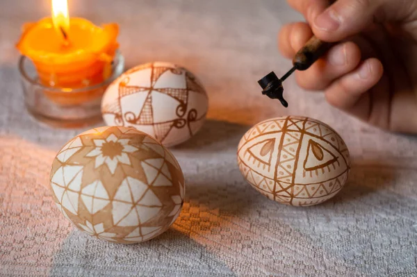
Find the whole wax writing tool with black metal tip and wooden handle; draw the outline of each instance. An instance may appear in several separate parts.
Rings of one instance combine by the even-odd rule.
[[[295,70],[306,70],[311,67],[311,65],[326,53],[332,45],[333,44],[329,42],[322,42],[316,36],[311,37],[304,47],[295,54],[295,57],[293,58],[293,68],[284,74],[284,76],[279,79],[274,72],[270,72],[270,74],[258,81],[263,90],[262,94],[268,96],[270,99],[279,99],[282,106],[288,107],[288,102],[285,101],[282,96],[284,93],[282,82],[293,74]]]

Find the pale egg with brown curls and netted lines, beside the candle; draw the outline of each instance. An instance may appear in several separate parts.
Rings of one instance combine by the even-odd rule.
[[[137,128],[173,146],[204,124],[208,98],[191,72],[169,62],[128,70],[106,90],[101,113],[107,125]]]

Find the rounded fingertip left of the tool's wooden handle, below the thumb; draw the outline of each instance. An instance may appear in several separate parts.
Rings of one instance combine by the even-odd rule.
[[[312,35],[309,24],[304,22],[285,25],[278,35],[279,51],[286,58],[293,58]]]

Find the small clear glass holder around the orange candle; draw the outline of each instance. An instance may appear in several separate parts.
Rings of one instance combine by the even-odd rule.
[[[117,51],[110,76],[103,82],[81,88],[49,87],[26,56],[19,60],[19,72],[26,108],[35,119],[61,128],[77,128],[101,121],[101,96],[124,71],[124,57]]]

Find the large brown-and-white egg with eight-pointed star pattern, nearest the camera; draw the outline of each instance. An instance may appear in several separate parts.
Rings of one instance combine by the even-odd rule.
[[[50,181],[63,215],[108,242],[130,244],[160,235],[183,204],[177,160],[135,128],[100,127],[77,135],[56,155]]]

